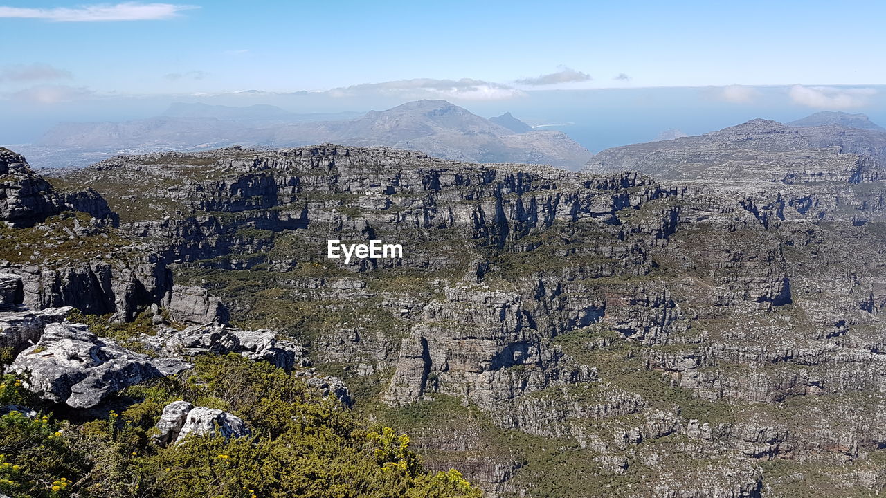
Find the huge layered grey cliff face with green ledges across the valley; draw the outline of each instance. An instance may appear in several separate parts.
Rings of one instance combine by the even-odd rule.
[[[128,274],[152,299],[168,261],[299,338],[431,468],[491,495],[747,497],[886,477],[886,202],[877,167],[834,161],[814,183],[657,183],[323,145],[51,181],[156,251]],[[404,257],[346,264],[331,238]]]

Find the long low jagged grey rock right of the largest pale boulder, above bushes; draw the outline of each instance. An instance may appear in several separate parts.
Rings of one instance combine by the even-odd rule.
[[[141,336],[139,340],[158,354],[169,356],[237,353],[285,370],[308,363],[301,346],[276,338],[274,332],[265,330],[240,331],[227,325],[192,325],[182,331],[164,329],[153,336]]]

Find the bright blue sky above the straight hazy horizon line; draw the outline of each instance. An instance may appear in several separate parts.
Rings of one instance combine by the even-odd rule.
[[[413,78],[518,89],[886,83],[882,2],[186,0],[113,11],[141,8],[135,15],[146,20],[83,20],[105,15],[95,5],[0,0],[0,69],[45,65],[62,75],[51,83],[125,94]],[[591,79],[518,83],[564,68]],[[0,84],[10,92],[32,83],[50,82]]]

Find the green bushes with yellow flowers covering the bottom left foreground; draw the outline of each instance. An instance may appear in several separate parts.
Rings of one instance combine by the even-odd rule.
[[[252,435],[189,436],[159,447],[167,402],[226,409]],[[5,376],[0,405],[35,403]],[[408,436],[370,425],[294,374],[231,354],[182,377],[128,388],[91,421],[0,416],[0,493],[12,498],[479,497],[457,471],[425,471]]]

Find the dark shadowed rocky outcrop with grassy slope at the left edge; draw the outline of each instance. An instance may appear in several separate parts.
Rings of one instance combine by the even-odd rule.
[[[169,291],[165,262],[114,228],[116,216],[97,192],[56,191],[6,149],[0,175],[0,268],[19,276],[15,304],[128,320]]]

